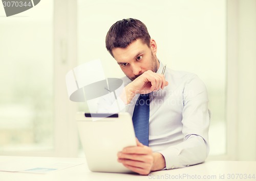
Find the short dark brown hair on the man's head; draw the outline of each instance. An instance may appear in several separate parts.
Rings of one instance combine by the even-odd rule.
[[[127,18],[117,21],[106,34],[106,49],[113,56],[113,48],[126,48],[133,41],[141,39],[150,47],[150,34],[143,22],[138,19]]]

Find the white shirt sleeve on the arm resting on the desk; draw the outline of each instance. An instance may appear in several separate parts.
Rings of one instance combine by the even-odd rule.
[[[204,83],[194,75],[184,85],[183,142],[160,152],[166,169],[182,168],[205,161],[209,153],[208,95]]]

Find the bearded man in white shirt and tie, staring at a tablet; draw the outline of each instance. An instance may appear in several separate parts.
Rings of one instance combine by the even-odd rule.
[[[149,95],[150,101],[148,146],[137,140],[137,146],[118,152],[118,162],[142,175],[204,162],[209,152],[209,113],[203,82],[195,74],[169,68],[161,74],[156,41],[137,19],[114,23],[105,41],[126,75],[119,97],[125,111],[133,115],[139,109],[140,94]]]

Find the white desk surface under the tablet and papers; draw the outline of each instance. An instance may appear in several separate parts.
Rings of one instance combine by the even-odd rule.
[[[26,157],[0,156],[0,163],[14,161]],[[28,157],[31,159],[31,157]],[[122,173],[100,173],[88,170],[83,158],[34,158],[38,161],[49,160],[58,162],[83,163],[67,169],[46,174],[3,172],[0,171],[1,181],[140,181],[140,180],[256,180],[256,162],[237,161],[206,161],[203,164],[186,168],[152,172],[150,175]],[[249,179],[249,174],[251,178]],[[254,174],[254,178],[252,178]],[[206,177],[206,178],[204,178]],[[208,177],[208,179],[207,179]],[[247,177],[247,178],[246,178]]]

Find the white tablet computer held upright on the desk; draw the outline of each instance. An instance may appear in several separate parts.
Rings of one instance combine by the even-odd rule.
[[[97,117],[95,121],[93,118]],[[129,173],[117,162],[117,153],[136,146],[132,117],[129,113],[88,114],[76,117],[81,144],[91,171]]]

